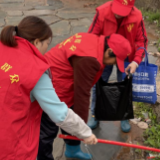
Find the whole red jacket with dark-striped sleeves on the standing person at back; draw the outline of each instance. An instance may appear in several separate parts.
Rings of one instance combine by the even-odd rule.
[[[139,47],[147,48],[148,42],[142,14],[136,7],[133,7],[130,15],[123,18],[118,28],[117,20],[111,11],[111,6],[112,1],[96,9],[97,14],[89,28],[89,33],[105,36],[109,36],[112,33],[123,35],[132,46],[132,54],[129,56],[129,61],[135,61],[140,64],[145,52],[144,50],[137,51],[137,49]]]

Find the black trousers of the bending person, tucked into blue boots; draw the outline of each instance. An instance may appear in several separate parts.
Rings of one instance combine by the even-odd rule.
[[[64,130],[61,130],[62,134],[70,135]],[[43,112],[41,119],[40,128],[40,139],[39,139],[39,149],[37,160],[54,160],[52,156],[53,142],[57,137],[58,127],[56,124],[48,117],[48,115]],[[80,141],[74,140],[64,140],[68,145],[80,145]]]

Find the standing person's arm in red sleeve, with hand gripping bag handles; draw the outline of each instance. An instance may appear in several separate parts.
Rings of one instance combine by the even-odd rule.
[[[144,49],[137,50],[139,47],[144,47],[147,49],[148,39],[146,34],[146,29],[144,26],[143,20],[139,23],[138,31],[136,33],[136,52],[134,55],[133,61],[128,65],[128,67],[125,69],[125,72],[128,73],[128,70],[130,70],[130,73],[134,73],[138,67],[138,65],[142,62],[145,51]]]

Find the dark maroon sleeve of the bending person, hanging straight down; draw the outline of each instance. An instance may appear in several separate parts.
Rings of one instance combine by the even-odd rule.
[[[74,70],[74,106],[73,110],[85,122],[88,120],[89,100],[92,84],[100,64],[93,57],[71,57]]]

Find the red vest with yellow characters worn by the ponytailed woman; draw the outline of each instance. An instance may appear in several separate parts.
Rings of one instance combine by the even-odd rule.
[[[27,40],[18,47],[0,42],[0,160],[35,160],[42,110],[30,92],[49,68]]]

